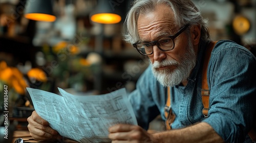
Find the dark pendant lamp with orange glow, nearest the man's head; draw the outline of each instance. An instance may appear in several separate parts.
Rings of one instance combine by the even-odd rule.
[[[112,6],[111,1],[99,0],[91,20],[97,23],[114,24],[121,21],[118,10]]]

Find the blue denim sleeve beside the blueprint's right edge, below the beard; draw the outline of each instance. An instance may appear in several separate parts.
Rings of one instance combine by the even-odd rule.
[[[156,84],[151,66],[149,66],[137,81],[136,89],[129,94],[138,125],[145,130],[148,129],[149,123],[159,115],[158,106],[152,97],[153,94],[157,97],[158,92],[154,92],[158,90]]]

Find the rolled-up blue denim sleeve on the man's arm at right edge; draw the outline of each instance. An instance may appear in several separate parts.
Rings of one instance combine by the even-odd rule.
[[[207,71],[208,123],[226,142],[243,142],[256,108],[256,59],[230,42],[216,45]]]

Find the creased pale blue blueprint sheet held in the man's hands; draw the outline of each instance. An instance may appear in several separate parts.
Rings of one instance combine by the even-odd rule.
[[[37,114],[61,136],[78,142],[111,142],[109,127],[137,125],[124,88],[97,96],[75,96],[58,89],[61,96],[27,88]]]

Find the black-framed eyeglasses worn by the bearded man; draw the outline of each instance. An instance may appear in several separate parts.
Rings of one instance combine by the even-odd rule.
[[[182,27],[176,34],[170,35],[164,38],[160,38],[152,42],[136,42],[133,46],[137,51],[142,55],[151,55],[153,54],[153,46],[157,45],[158,49],[161,51],[171,51],[174,49],[175,43],[174,39],[178,37],[182,32],[184,32],[189,25]]]

